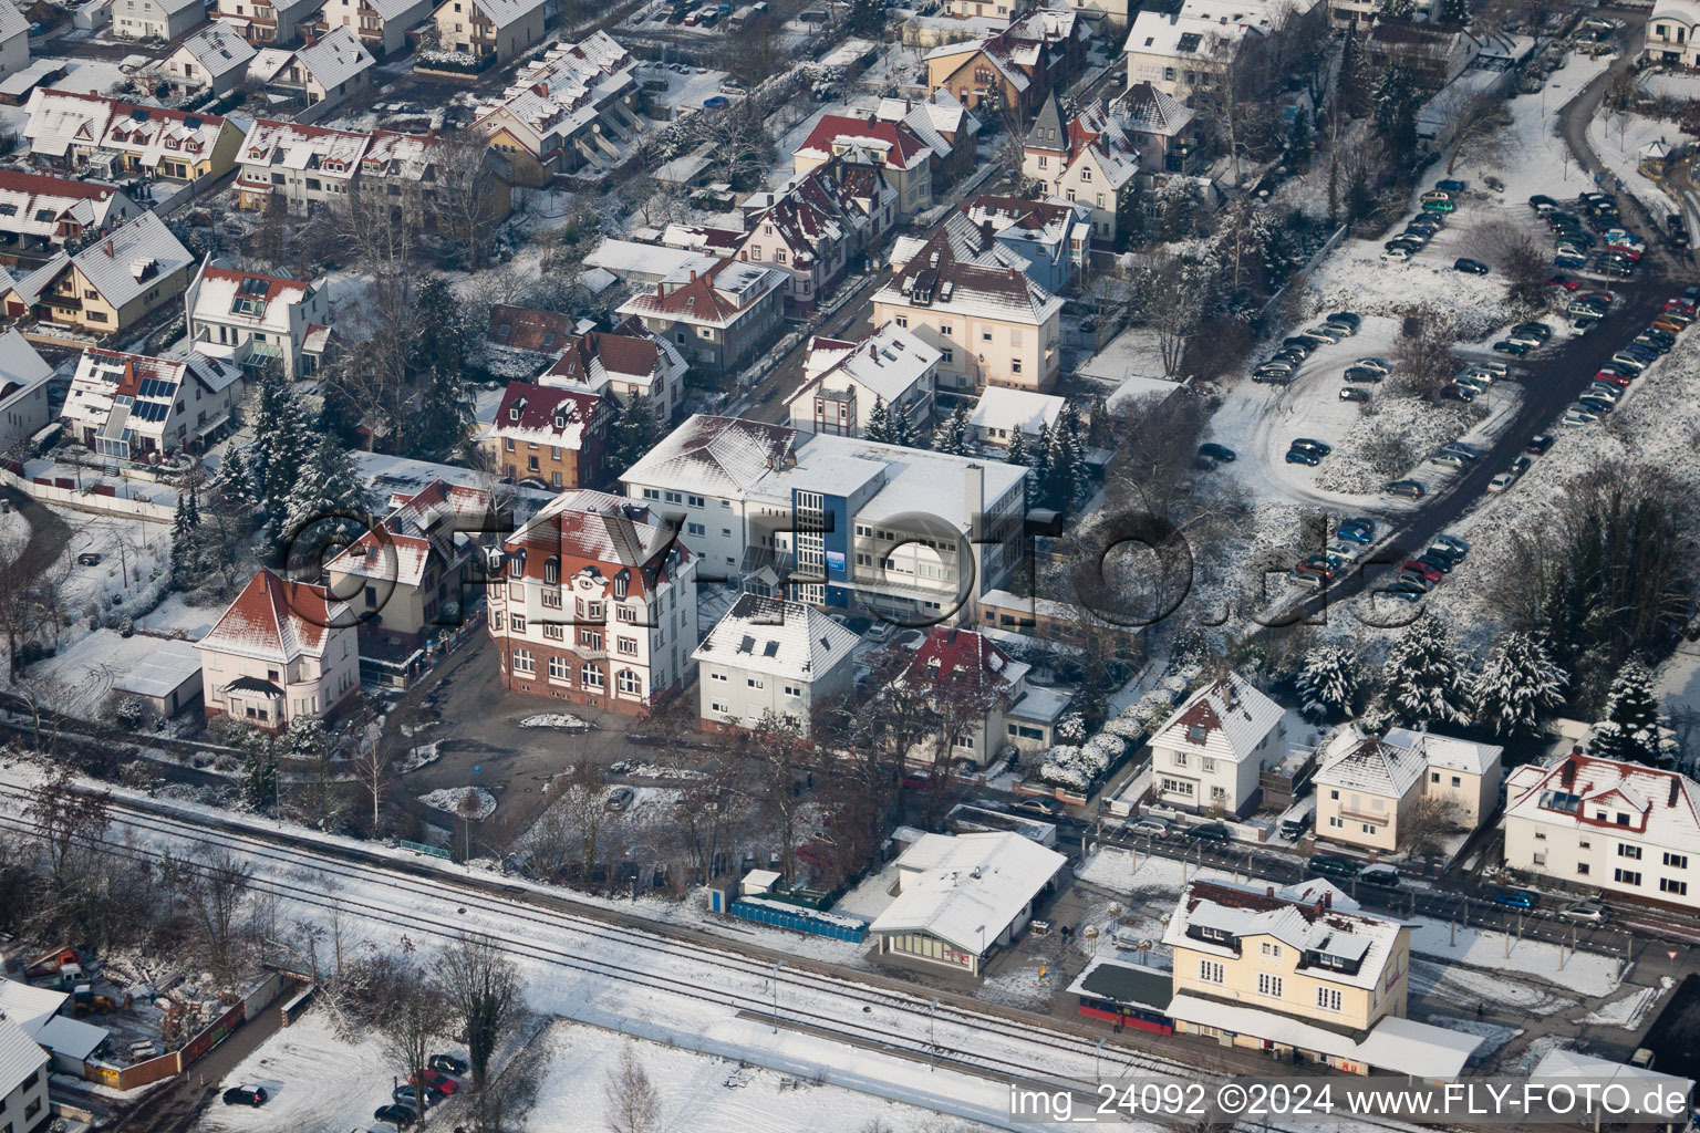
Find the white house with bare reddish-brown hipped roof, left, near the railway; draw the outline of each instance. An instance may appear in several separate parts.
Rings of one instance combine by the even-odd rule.
[[[360,649],[348,606],[323,586],[262,567],[202,637],[201,698],[209,717],[267,730],[333,715],[360,691]]]

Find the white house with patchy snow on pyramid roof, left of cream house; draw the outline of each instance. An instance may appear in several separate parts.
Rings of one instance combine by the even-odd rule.
[[[1258,802],[1258,775],[1287,756],[1285,715],[1238,673],[1210,681],[1153,736],[1153,797],[1182,810],[1246,814]]]

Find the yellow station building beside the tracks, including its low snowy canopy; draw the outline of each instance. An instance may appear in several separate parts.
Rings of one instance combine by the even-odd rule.
[[[1163,943],[1175,1031],[1346,1074],[1452,1079],[1479,1036],[1404,1017],[1411,927],[1323,880],[1282,890],[1192,882]]]

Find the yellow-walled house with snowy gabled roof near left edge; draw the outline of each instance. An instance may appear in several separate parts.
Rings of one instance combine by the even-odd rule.
[[[83,331],[126,331],[177,302],[196,256],[153,212],[143,212],[76,255],[48,260],[0,296],[8,319],[34,318]]]

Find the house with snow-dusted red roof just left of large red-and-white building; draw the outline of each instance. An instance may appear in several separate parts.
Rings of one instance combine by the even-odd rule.
[[[359,620],[362,654],[396,652],[394,639],[405,656],[461,625],[479,593],[473,555],[495,518],[490,491],[434,481],[391,496],[389,515],[325,564],[330,595]]]

